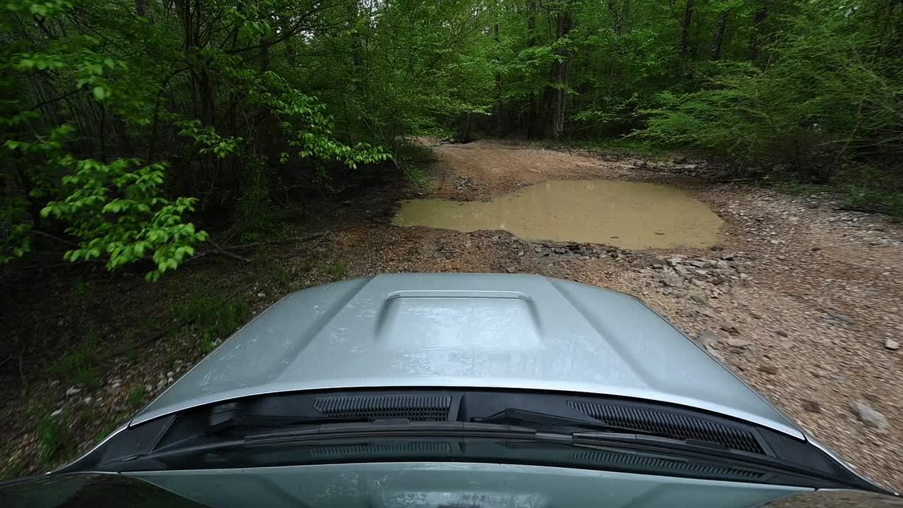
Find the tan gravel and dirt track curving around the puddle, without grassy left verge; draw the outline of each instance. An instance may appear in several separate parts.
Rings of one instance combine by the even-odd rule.
[[[693,165],[493,142],[436,146],[430,195],[485,200],[528,183],[610,178],[673,183],[725,220],[716,249],[632,252],[530,243],[506,231],[353,226],[329,249],[349,276],[518,272],[639,296],[866,475],[903,489],[903,228],[836,212],[827,195],[684,180]],[[868,407],[875,411],[874,414]]]

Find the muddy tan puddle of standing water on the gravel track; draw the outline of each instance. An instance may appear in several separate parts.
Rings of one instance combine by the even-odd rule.
[[[396,226],[508,230],[522,240],[605,243],[625,249],[709,247],[721,218],[680,189],[656,183],[536,183],[491,202],[402,202]]]

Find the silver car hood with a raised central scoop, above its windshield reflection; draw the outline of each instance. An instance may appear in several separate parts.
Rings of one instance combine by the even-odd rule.
[[[528,275],[394,274],[298,291],[132,425],[221,400],[386,387],[559,390],[706,409],[803,438],[638,299]]]

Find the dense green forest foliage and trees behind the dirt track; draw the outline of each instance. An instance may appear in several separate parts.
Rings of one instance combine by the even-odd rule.
[[[415,174],[418,134],[636,136],[903,213],[903,0],[3,0],[0,31],[3,261],[158,278],[205,221]]]

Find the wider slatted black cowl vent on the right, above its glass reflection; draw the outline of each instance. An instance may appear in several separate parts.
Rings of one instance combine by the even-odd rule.
[[[619,404],[593,404],[580,400],[568,400],[567,404],[571,408],[611,426],[637,428],[657,436],[676,439],[711,441],[732,450],[765,454],[759,441],[751,432],[707,419]]]

